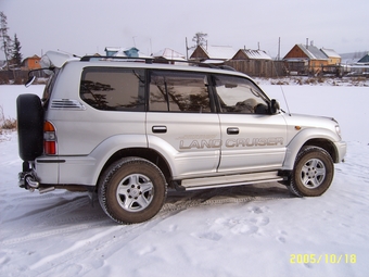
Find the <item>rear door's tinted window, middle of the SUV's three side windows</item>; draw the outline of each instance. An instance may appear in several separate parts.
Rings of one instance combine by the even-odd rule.
[[[202,73],[152,71],[150,111],[209,113],[207,77]]]

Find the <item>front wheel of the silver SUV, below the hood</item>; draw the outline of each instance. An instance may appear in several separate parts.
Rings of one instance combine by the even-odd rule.
[[[319,197],[330,187],[333,175],[330,154],[318,147],[306,147],[296,158],[289,188],[297,197]]]

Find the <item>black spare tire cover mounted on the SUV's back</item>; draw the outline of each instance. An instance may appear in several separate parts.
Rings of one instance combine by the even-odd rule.
[[[21,95],[16,99],[20,156],[34,161],[43,152],[43,109],[36,95]]]

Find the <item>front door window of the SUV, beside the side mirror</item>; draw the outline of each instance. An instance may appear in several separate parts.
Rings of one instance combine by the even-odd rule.
[[[246,78],[216,75],[215,87],[222,113],[268,113],[264,93]]]

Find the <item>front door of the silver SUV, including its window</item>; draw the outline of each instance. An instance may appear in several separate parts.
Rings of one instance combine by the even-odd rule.
[[[222,140],[218,172],[280,168],[287,149],[283,116],[269,113],[269,99],[246,77],[215,75],[214,83]]]

